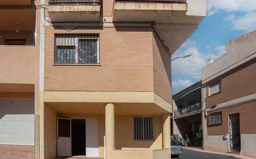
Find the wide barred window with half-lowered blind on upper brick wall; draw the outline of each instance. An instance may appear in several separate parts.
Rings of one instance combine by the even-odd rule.
[[[55,64],[99,64],[99,35],[55,35]]]

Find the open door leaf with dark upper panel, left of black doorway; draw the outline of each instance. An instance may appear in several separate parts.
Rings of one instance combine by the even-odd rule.
[[[58,157],[71,157],[71,120],[58,119],[57,155]]]

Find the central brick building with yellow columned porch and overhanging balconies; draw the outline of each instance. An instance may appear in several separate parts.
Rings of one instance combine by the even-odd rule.
[[[205,0],[45,7],[41,157],[170,158],[170,56]]]

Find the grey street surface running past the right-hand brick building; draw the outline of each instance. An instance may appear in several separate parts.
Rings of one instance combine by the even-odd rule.
[[[199,148],[183,147],[183,154],[178,158],[181,159],[254,159],[244,155],[232,153],[218,153],[201,150]],[[173,158],[173,157],[172,157]]]

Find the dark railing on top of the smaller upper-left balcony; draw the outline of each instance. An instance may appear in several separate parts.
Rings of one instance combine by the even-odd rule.
[[[50,5],[99,5],[101,0],[49,0]]]

